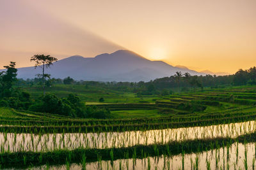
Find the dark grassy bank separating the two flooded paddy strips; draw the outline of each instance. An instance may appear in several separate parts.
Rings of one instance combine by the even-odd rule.
[[[97,162],[100,160],[116,159],[147,159],[148,157],[173,157],[180,153],[202,153],[207,150],[220,150],[225,146],[231,146],[233,143],[252,143],[256,141],[255,133],[238,136],[237,138],[214,138],[214,139],[195,139],[182,142],[170,142],[154,145],[136,145],[127,148],[104,148],[88,149],[77,148],[75,150],[54,150],[53,152],[16,152],[1,153],[1,165],[3,167],[13,167],[22,165],[29,167],[29,162],[35,166],[47,164],[65,164],[69,162],[81,163],[84,155],[86,162]],[[140,153],[140,154],[136,154]],[[112,155],[109,157],[109,155]],[[115,155],[115,156],[114,156]],[[125,155],[125,157],[124,157]],[[135,156],[136,155],[136,156]],[[216,158],[217,159],[217,158]],[[26,161],[25,161],[26,160]],[[83,161],[84,162],[84,161]]]

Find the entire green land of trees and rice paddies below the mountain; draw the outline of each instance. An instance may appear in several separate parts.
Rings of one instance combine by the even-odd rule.
[[[46,79],[44,72],[17,80],[15,62],[5,68],[0,168],[72,169],[76,163],[85,169],[92,162],[99,169],[129,169],[132,161],[134,169],[168,169],[173,157],[179,157],[177,169],[255,164],[248,156],[256,142],[255,67],[231,76],[177,72],[146,83]]]

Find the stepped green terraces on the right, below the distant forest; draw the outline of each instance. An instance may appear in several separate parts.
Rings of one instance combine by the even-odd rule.
[[[239,94],[239,90],[241,94]],[[100,108],[108,108],[116,115],[126,113],[132,116],[131,110],[154,110],[161,117],[189,114],[189,113],[209,113],[216,111],[225,111],[232,108],[243,108],[245,106],[254,106],[256,104],[255,89],[226,89],[207,91],[207,92],[189,92],[174,94],[171,96],[159,97],[154,103],[106,103],[97,104]],[[90,104],[89,104],[90,105]],[[202,107],[201,110],[189,108],[189,105]],[[139,111],[138,111],[139,112]],[[140,115],[138,115],[140,117]]]

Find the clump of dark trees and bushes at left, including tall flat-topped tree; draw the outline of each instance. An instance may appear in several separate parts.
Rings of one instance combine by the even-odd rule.
[[[85,106],[79,97],[69,94],[68,97],[59,98],[54,94],[45,94],[46,78],[49,74],[44,73],[44,68],[52,65],[56,61],[50,55],[34,55],[31,60],[36,62],[35,67],[42,67],[42,74],[36,75],[42,80],[43,95],[38,99],[31,99],[28,92],[20,90],[17,84],[17,69],[15,62],[10,62],[9,66],[4,66],[5,71],[0,73],[0,107],[10,107],[19,110],[29,110],[66,115],[80,118],[107,118],[109,110],[99,109],[96,106]]]

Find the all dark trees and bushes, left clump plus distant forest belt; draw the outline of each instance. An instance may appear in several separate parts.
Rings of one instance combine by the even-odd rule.
[[[94,117],[106,118],[108,110],[101,110],[95,107],[86,107],[81,103],[79,97],[74,94],[68,97],[58,98],[54,94],[46,94],[47,87],[56,84],[84,85],[84,88],[104,87],[110,90],[122,92],[134,92],[138,96],[143,95],[169,95],[172,88],[181,91],[203,90],[204,87],[220,88],[227,85],[256,85],[256,67],[250,69],[239,69],[235,74],[227,76],[191,76],[189,73],[176,72],[175,75],[157,78],[156,80],[144,82],[100,82],[100,81],[76,81],[69,76],[61,80],[51,78],[51,74],[45,74],[45,67],[50,67],[58,59],[50,55],[34,55],[31,61],[35,62],[35,67],[42,67],[42,74],[37,74],[34,79],[17,79],[16,63],[10,62],[4,66],[4,71],[0,73],[0,106],[7,106],[20,110],[41,111],[47,113],[58,113],[71,117]],[[43,94],[38,99],[31,99],[28,92],[20,90],[20,87],[41,86]]]

